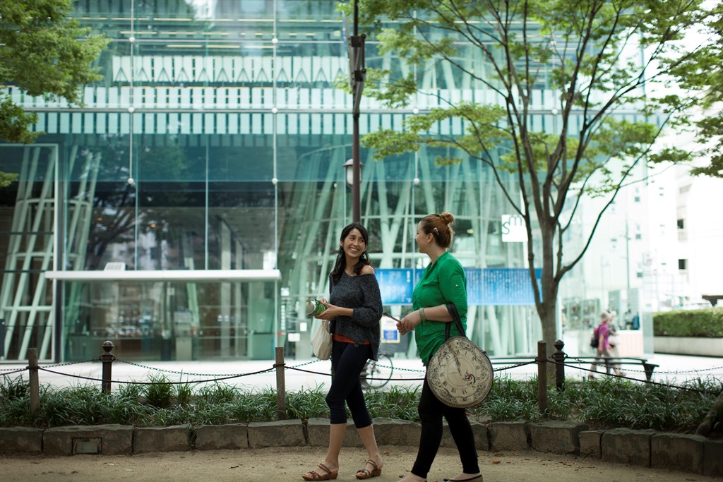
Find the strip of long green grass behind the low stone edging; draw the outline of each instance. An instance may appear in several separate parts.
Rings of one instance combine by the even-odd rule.
[[[275,421],[276,392],[273,388],[243,390],[223,383],[196,386],[168,384],[166,376],[150,376],[155,384],[120,384],[111,394],[98,385],[40,387],[40,416],[30,414],[30,390],[22,378],[0,378],[0,425],[54,427],[119,423],[134,426],[192,426]],[[675,384],[675,383],[672,383]],[[492,391],[478,407],[473,419],[489,421],[570,420],[587,423],[591,429],[629,427],[674,433],[692,433],[711,409],[721,382],[712,377],[677,384],[693,390],[602,378],[587,382],[569,381],[564,392],[550,387],[547,413],[537,408],[537,381],[498,377]],[[286,418],[327,418],[328,388],[288,392]],[[417,405],[421,387],[386,387],[369,390],[367,408],[374,418],[419,421]],[[723,412],[723,410],[722,410]],[[723,438],[723,413],[713,425],[711,438]]]

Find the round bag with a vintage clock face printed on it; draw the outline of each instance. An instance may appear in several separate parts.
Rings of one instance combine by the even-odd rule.
[[[427,366],[427,383],[442,403],[467,408],[492,389],[492,363],[487,353],[466,337],[451,337]]]

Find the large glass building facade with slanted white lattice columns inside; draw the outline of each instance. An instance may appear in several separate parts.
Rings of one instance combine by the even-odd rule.
[[[311,356],[305,302],[328,293],[351,222],[351,95],[335,87],[347,33],[335,2],[83,0],[74,17],[113,40],[85,106],[3,87],[38,113],[43,134],[0,145],[0,170],[20,173],[0,190],[1,359],[37,347],[41,360],[85,360],[104,340],[128,360],[270,359],[275,346]],[[371,41],[366,55],[369,67],[410,69]],[[463,51],[460,61],[485,68]],[[362,135],[440,98],[493,99],[441,64],[416,75],[408,109],[362,100]],[[552,126],[553,98],[534,92],[535,128]],[[512,210],[492,171],[437,166],[440,154],[375,161],[361,150],[375,267],[416,276],[427,262],[416,223],[442,211],[455,215],[465,267],[525,267],[523,245],[502,242]],[[491,355],[533,353],[539,319],[528,304],[471,304],[469,336]],[[383,349],[412,355],[409,342]]]

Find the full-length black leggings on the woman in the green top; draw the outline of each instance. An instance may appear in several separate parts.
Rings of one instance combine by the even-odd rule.
[[[478,473],[477,449],[474,447],[474,434],[464,408],[452,408],[435,397],[424,378],[422,395],[419,397],[419,419],[422,420],[422,436],[419,439],[414,467],[411,473],[427,478],[429,468],[435,461],[437,449],[442,442],[442,416],[449,423],[450,432],[459,451],[464,473]]]

